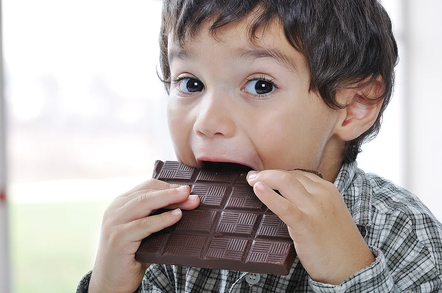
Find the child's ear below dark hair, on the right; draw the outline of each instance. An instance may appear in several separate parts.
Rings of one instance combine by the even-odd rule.
[[[351,141],[367,131],[376,121],[384,101],[383,98],[379,99],[384,93],[381,76],[365,85],[361,82],[359,86],[336,93],[336,100],[346,105],[338,110],[334,127],[334,133],[343,141]]]

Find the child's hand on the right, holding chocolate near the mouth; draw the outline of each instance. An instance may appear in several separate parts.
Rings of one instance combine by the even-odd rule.
[[[278,170],[250,171],[248,182],[287,224],[299,260],[313,280],[338,285],[374,262],[331,182],[309,172]]]

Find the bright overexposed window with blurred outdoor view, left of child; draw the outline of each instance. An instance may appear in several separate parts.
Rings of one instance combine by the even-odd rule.
[[[161,1],[2,1],[13,292],[72,292],[111,199],[173,159]]]

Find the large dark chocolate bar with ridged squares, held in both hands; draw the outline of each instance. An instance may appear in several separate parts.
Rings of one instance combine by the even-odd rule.
[[[189,185],[200,205],[142,240],[135,258],[197,268],[287,275],[296,257],[287,225],[253,192],[247,171],[156,161],[153,178]],[[160,209],[156,213],[166,210]]]

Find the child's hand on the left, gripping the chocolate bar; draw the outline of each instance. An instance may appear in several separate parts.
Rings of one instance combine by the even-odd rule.
[[[115,198],[103,216],[89,293],[137,290],[150,264],[135,260],[141,240],[181,219],[181,209],[199,205],[189,186],[150,179]],[[149,216],[160,208],[175,209]]]

